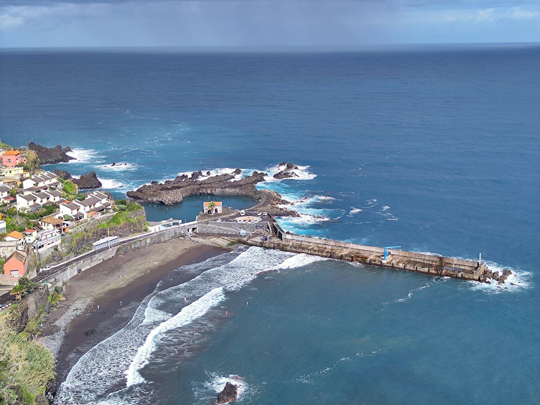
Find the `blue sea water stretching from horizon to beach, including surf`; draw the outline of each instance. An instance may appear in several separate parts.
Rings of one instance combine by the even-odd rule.
[[[1,51],[2,141],[79,158],[49,168],[95,170],[122,197],[178,173],[292,161],[301,179],[260,185],[297,201],[285,228],[482,252],[516,273],[504,289],[240,249],[179,269],[203,272],[191,284],[160,284],[57,402],[206,404],[241,375],[246,404],[540,403],[539,72],[535,44]],[[184,219],[193,204],[147,209]]]

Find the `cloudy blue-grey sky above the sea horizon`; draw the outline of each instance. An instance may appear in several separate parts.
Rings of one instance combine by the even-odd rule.
[[[540,42],[540,0],[0,0],[0,48]]]

